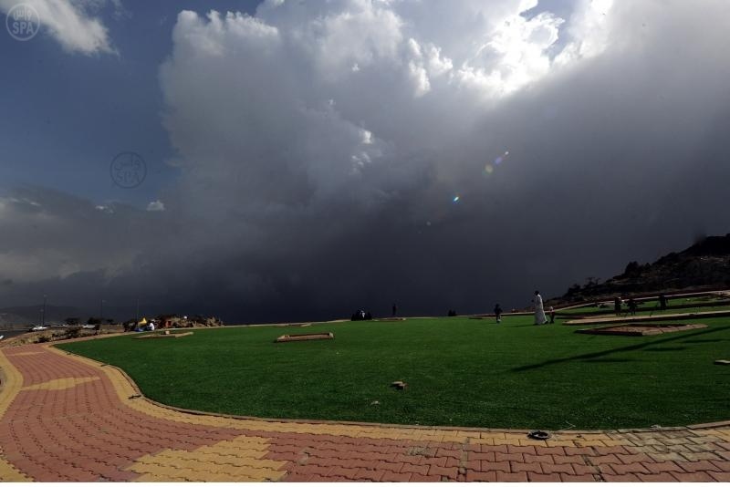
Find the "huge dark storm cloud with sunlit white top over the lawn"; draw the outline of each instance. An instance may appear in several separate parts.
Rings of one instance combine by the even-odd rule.
[[[727,232],[725,2],[577,3],[564,26],[482,4],[181,14],[166,210],[6,197],[6,296],[249,322],[479,312]]]

